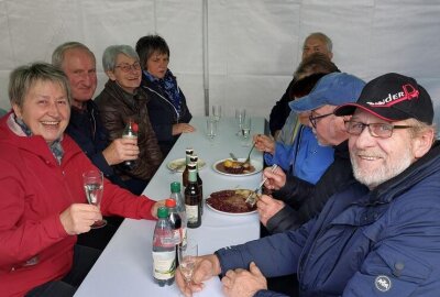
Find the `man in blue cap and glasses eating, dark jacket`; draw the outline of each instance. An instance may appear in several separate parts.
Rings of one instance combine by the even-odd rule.
[[[318,183],[310,184],[297,176],[267,168],[266,188],[272,197],[263,195],[257,207],[261,222],[270,233],[297,229],[317,216],[327,200],[351,183],[352,174],[344,119],[333,114],[343,103],[358,100],[365,82],[355,76],[333,73],[318,80],[308,96],[290,102],[295,112],[310,112],[310,124],[320,145],[333,146],[333,163],[321,175]]]

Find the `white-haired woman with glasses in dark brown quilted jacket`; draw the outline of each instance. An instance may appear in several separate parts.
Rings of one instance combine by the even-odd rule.
[[[163,156],[150,122],[148,97],[140,88],[142,72],[138,53],[129,45],[111,45],[102,56],[109,77],[102,92],[95,99],[110,140],[121,138],[129,121],[139,127],[139,158],[134,167],[117,165],[117,173],[133,194],[141,194],[162,163]]]

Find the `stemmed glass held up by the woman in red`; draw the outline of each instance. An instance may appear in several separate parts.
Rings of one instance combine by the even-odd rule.
[[[97,206],[101,205],[102,191],[103,191],[103,177],[100,170],[88,170],[82,174],[82,185],[86,191],[87,201],[90,205]],[[107,224],[106,220],[98,220],[92,226],[91,229],[102,228]]]

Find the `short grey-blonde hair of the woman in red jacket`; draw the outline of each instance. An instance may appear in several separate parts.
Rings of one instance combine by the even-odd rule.
[[[70,103],[72,95],[67,76],[54,65],[36,62],[20,66],[10,74],[8,91],[11,106],[16,105],[22,108],[29,90],[37,81],[58,84],[66,91],[67,100]]]

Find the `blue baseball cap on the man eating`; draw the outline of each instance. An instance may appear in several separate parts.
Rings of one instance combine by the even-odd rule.
[[[323,76],[309,95],[289,103],[295,112],[304,112],[322,106],[340,106],[355,102],[365,81],[345,73],[332,73]]]

